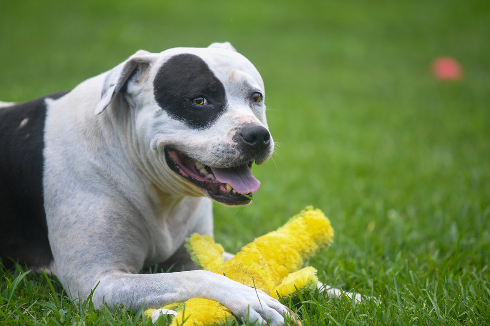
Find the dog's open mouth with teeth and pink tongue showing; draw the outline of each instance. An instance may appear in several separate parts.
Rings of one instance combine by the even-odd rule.
[[[181,152],[165,150],[169,167],[177,174],[207,191],[214,200],[227,205],[243,205],[257,192],[260,181],[250,169],[252,161],[232,168],[215,168],[204,165]]]

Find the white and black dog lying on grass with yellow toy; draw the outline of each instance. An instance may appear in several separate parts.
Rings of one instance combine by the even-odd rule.
[[[96,307],[202,297],[283,325],[287,307],[195,270],[183,246],[213,235],[212,200],[245,205],[259,189],[252,164],[274,149],[264,99],[257,69],[213,43],[140,50],[70,91],[1,103],[4,265],[43,268],[72,298],[95,289]],[[185,271],[139,274],[155,264]]]

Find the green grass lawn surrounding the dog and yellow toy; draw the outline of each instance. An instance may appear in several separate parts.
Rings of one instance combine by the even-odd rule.
[[[278,146],[249,206],[216,205],[217,241],[236,252],[314,205],[336,231],[320,280],[375,299],[306,295],[303,325],[490,325],[489,22],[487,1],[4,1],[0,100],[140,48],[230,41],[264,78]],[[431,77],[440,55],[461,81]],[[20,273],[1,272],[0,325],[150,324]]]

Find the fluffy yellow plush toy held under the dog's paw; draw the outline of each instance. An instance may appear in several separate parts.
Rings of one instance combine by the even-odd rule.
[[[300,269],[307,259],[332,242],[334,230],[319,210],[306,207],[284,226],[247,244],[232,259],[224,261],[223,247],[210,236],[194,234],[186,248],[200,269],[225,275],[242,284],[254,286],[271,297],[289,297],[311,290],[318,283],[317,270]],[[184,308],[185,307],[185,308]],[[163,309],[177,311],[172,326],[213,326],[232,320],[231,312],[216,301],[193,298],[168,304]],[[158,318],[160,310],[147,309],[145,316]],[[185,313],[185,315],[184,315]]]

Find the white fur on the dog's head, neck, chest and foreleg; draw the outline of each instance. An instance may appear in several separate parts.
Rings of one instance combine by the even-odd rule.
[[[231,46],[231,44],[230,44]],[[199,56],[225,87],[227,110],[210,128],[193,130],[156,103],[158,68],[179,53]],[[128,67],[138,72],[118,93]],[[119,84],[118,84],[119,83]],[[244,89],[265,93],[260,74],[229,46],[139,51],[57,100],[47,100],[44,199],[54,272],[69,294],[102,306],[161,307],[193,297],[214,299],[239,318],[284,324],[287,309],[259,290],[202,271],[138,274],[143,265],[185,257],[184,239],[213,234],[212,204],[166,164],[167,145],[211,166],[233,166],[234,127],[267,128],[265,106]],[[102,94],[102,96],[101,96]],[[270,153],[273,150],[271,139]],[[205,194],[204,194],[205,195]],[[176,254],[177,253],[177,254]],[[190,260],[186,266],[193,266]]]

